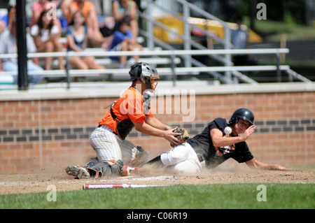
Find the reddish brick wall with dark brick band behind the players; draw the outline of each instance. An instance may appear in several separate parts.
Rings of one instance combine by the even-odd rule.
[[[0,101],[0,173],[62,169],[95,157],[89,134],[106,112],[104,107],[116,99],[115,96]],[[174,109],[177,99],[181,98],[173,96],[171,105],[166,100],[153,99],[152,106],[164,103],[165,108],[164,112],[159,111],[163,114],[155,117],[169,125],[181,124],[194,136],[214,118],[228,120],[235,109],[246,107],[253,110],[258,127],[247,142],[259,161],[315,164],[314,92],[196,95],[194,103],[188,105],[195,111],[193,122],[183,122],[187,113],[180,110],[178,114]],[[168,108],[172,108],[170,114]],[[170,149],[163,138],[135,130],[127,139],[144,146],[151,157]]]

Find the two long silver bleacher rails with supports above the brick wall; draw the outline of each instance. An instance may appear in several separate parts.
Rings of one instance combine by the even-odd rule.
[[[158,68],[159,75],[168,75],[172,76],[174,85],[176,85],[177,75],[199,75],[201,72],[225,72],[225,71],[276,71],[277,75],[281,75],[281,71],[286,71],[288,75],[291,75],[293,78],[296,78],[302,82],[311,82],[307,78],[304,78],[302,75],[295,73],[290,70],[289,66],[280,65],[279,63],[269,66],[202,66],[202,67],[176,67],[174,63],[175,56],[183,55],[276,55],[279,57],[281,54],[288,53],[287,48],[284,49],[248,49],[248,50],[148,50],[148,51],[120,51],[120,52],[108,52],[108,51],[85,51],[85,52],[38,52],[38,53],[29,53],[27,56],[30,58],[44,58],[44,57],[64,57],[67,62],[69,62],[69,57],[71,56],[94,56],[94,57],[120,57],[122,55],[133,56],[139,55],[140,57],[153,57],[153,56],[163,56],[170,57],[172,66],[169,68]],[[0,55],[0,59],[3,58],[16,58],[17,54],[6,54]],[[141,61],[146,61],[145,58],[142,58]],[[105,74],[110,75],[120,75],[122,79],[128,80],[130,69],[101,69],[101,70],[80,70],[80,69],[69,69],[69,66],[66,66],[66,70],[50,70],[50,71],[29,71],[29,75],[43,75],[44,77],[55,77],[55,78],[66,78],[67,88],[71,87],[71,78],[72,77],[92,77],[92,76],[102,76]],[[18,75],[17,72],[0,72],[0,75]],[[258,84],[255,80],[248,78],[246,75],[239,73],[232,73],[235,75],[235,78],[248,82],[251,84]],[[219,74],[217,77],[219,80],[232,84],[230,78],[226,78],[225,75]],[[281,78],[278,77],[278,80]],[[280,81],[279,81],[280,82]]]

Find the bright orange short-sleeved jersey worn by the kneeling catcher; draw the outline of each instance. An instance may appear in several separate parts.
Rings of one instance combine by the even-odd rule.
[[[151,103],[146,108],[141,93],[136,88],[130,87],[111,107],[113,114],[116,115],[116,119],[113,119],[111,109],[109,109],[99,124],[110,127],[111,130],[118,134],[117,124],[120,121],[130,118],[132,122],[144,122],[146,116],[154,117],[150,106]]]

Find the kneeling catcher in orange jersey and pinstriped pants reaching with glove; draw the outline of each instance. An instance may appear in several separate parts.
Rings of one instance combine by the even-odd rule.
[[[90,143],[97,159],[85,166],[68,166],[66,173],[75,178],[100,178],[106,173],[130,175],[137,167],[127,164],[143,163],[146,152],[125,138],[133,128],[150,136],[165,138],[177,145],[174,129],[156,119],[151,110],[151,93],[155,94],[158,72],[150,64],[140,62],[130,69],[132,85],[115,101],[90,135]],[[150,93],[151,92],[151,93]],[[142,160],[141,160],[142,159]],[[138,162],[139,164],[139,162]],[[118,171],[117,171],[118,170]]]

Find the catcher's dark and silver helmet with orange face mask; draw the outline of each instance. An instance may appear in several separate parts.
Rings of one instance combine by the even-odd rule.
[[[160,79],[158,71],[145,62],[132,65],[129,74],[130,80],[140,80],[146,85],[147,89],[153,89],[153,91],[155,91],[155,87],[158,85],[155,79]]]

